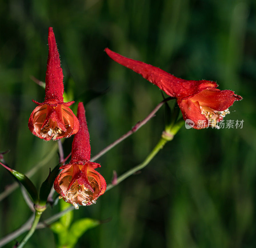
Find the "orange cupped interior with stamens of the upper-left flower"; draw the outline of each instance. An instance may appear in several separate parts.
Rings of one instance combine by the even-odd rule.
[[[42,126],[48,116],[50,116],[48,122]],[[57,124],[57,120],[59,124]],[[33,114],[33,125],[34,131],[44,139],[68,137],[74,127],[73,112],[64,105],[58,105],[57,107],[47,104],[38,106]],[[66,131],[63,129],[66,129]]]

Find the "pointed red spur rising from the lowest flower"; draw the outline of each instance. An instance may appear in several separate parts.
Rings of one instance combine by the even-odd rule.
[[[90,161],[91,146],[83,102],[78,103],[77,118],[80,128],[73,139],[70,163],[84,164]]]

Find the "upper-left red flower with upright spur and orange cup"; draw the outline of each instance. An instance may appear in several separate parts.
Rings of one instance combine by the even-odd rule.
[[[32,100],[38,107],[29,117],[28,128],[41,139],[56,140],[75,134],[79,129],[79,122],[69,108],[74,101],[63,101],[63,73],[52,27],[49,27],[48,45],[45,100],[42,103]]]

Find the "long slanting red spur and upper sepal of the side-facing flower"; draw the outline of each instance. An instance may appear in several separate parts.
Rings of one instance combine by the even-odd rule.
[[[172,97],[187,99],[204,89],[212,87],[215,88],[218,86],[215,82],[207,80],[195,81],[176,78],[172,74],[169,74],[168,72],[163,71],[158,67],[143,63],[138,60],[126,58],[118,53],[111,51],[108,48],[105,49],[105,52],[117,63],[122,64],[127,68],[139,73],[143,78],[155,84],[166,94]]]

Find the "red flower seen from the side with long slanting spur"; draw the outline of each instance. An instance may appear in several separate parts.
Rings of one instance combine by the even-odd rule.
[[[242,99],[241,96],[234,94],[231,90],[216,89],[218,86],[216,82],[176,78],[155,66],[126,58],[108,48],[105,49],[105,52],[117,63],[139,73],[166,94],[175,97],[184,120],[192,120],[196,129],[201,129],[208,125],[218,128],[216,124],[226,114],[229,114],[228,108],[234,101]],[[200,126],[200,123],[205,125]]]

